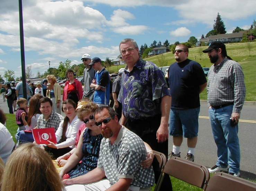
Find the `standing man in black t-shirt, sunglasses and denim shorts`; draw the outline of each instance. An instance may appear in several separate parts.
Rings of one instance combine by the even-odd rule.
[[[186,45],[178,44],[174,54],[177,62],[171,64],[168,70],[171,91],[169,132],[173,136],[173,151],[169,157],[180,157],[180,145],[185,137],[188,146],[185,159],[194,161],[200,111],[199,94],[205,89],[207,81],[201,65],[187,59]]]

